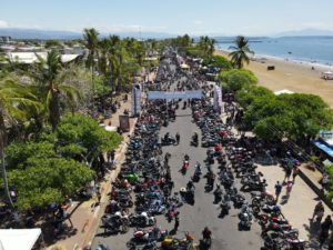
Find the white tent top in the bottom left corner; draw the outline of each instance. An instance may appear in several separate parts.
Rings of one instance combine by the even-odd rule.
[[[40,234],[40,228],[0,229],[0,250],[31,250]]]

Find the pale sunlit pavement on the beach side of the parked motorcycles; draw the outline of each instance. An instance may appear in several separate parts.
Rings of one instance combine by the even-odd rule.
[[[223,113],[221,119],[225,121],[226,116]],[[236,134],[236,130],[233,128],[233,132]],[[245,136],[252,137],[252,132],[246,132]],[[268,190],[274,194],[274,186],[276,181],[282,182],[284,179],[284,171],[279,166],[261,166],[258,164],[258,172],[263,173],[263,178],[266,179]],[[300,230],[300,239],[310,242],[309,249],[319,249],[317,236],[320,232],[320,224],[311,222],[315,204],[321,200],[317,196],[317,191],[321,189],[319,183],[322,178],[321,172],[317,170],[310,170],[306,164],[300,167],[301,173],[295,179],[295,183],[292,188],[290,198],[285,200],[285,186],[282,189],[278,204],[282,208],[282,213],[290,221],[293,228]],[[324,202],[323,202],[324,203]],[[332,214],[331,208],[324,203],[325,216]],[[323,218],[324,220],[324,218]],[[322,249],[325,249],[323,247]]]

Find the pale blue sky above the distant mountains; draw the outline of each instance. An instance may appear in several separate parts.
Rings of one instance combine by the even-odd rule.
[[[333,31],[333,0],[0,0],[0,28],[270,36]]]

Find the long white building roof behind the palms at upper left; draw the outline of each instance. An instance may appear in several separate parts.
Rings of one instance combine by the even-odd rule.
[[[31,64],[38,61],[38,57],[36,54],[40,56],[43,59],[47,59],[48,57],[48,52],[8,52],[7,57],[12,62]],[[61,61],[70,62],[78,57],[79,54],[61,54]]]

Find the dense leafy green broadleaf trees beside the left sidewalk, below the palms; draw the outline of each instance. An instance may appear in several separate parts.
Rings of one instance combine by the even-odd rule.
[[[20,210],[61,202],[95,177],[93,162],[122,140],[93,119],[68,114],[57,130],[33,141],[7,147],[9,186],[19,196]],[[82,163],[83,162],[83,163]]]

